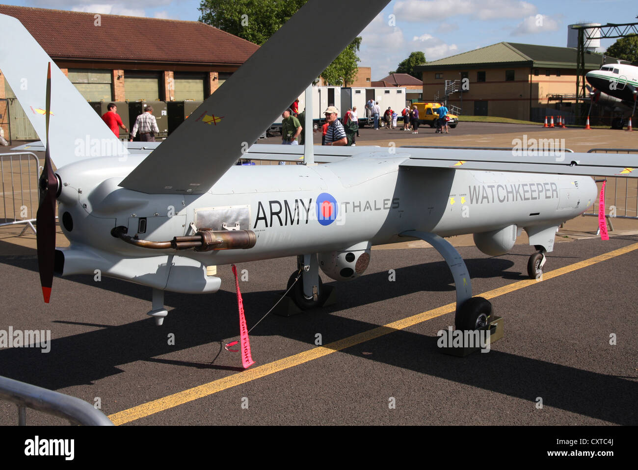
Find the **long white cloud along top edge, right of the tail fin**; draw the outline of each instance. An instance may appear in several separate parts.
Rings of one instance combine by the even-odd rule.
[[[394,5],[397,20],[434,22],[457,16],[480,20],[521,18],[536,13],[536,7],[521,0],[399,0]]]

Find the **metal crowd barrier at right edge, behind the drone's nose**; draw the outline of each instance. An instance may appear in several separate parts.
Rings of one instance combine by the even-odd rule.
[[[590,149],[587,153],[616,153],[629,154],[638,153],[638,149]],[[615,177],[594,177],[597,183],[607,181],[605,185],[605,219],[609,224],[609,230],[613,231],[614,226],[611,219],[638,219],[638,184],[635,178],[623,176]],[[635,187],[631,187],[634,186]],[[611,187],[613,189],[611,189]],[[613,198],[608,191],[613,191]],[[609,196],[608,196],[609,195]],[[585,212],[583,216],[598,217],[598,202],[600,201],[600,186],[598,186],[598,196],[591,207],[591,212]],[[606,210],[609,207],[609,212]],[[613,208],[613,209],[612,209]],[[619,214],[621,212],[621,214]]]

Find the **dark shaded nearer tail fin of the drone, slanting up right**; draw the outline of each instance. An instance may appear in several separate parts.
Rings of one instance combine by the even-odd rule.
[[[120,184],[202,194],[389,0],[310,0]],[[339,105],[340,103],[335,103]]]

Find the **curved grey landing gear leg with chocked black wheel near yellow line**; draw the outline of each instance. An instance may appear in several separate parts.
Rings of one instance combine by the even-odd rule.
[[[487,328],[491,320],[492,304],[482,297],[472,297],[472,284],[468,268],[461,254],[447,240],[426,231],[408,230],[399,233],[399,237],[415,237],[431,244],[447,263],[456,284],[457,330],[480,330]]]

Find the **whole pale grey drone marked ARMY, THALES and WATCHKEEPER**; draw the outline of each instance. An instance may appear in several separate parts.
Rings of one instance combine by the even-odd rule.
[[[151,287],[149,314],[161,324],[164,291],[219,289],[207,267],[297,255],[288,286],[308,309],[325,301],[320,267],[332,279],[353,279],[366,270],[371,246],[413,237],[436,247],[452,270],[457,328],[485,327],[491,305],[471,297],[465,264],[443,237],[473,233],[481,251],[499,255],[524,229],[536,249],[528,272],[538,277],[558,226],[595,200],[596,185],[583,175],[632,176],[638,162],[630,155],[318,147],[316,158],[330,163],[312,165],[312,145],[253,145],[246,154],[272,110],[299,96],[387,3],[309,1],[170,138],[128,153],[54,65],[48,104],[50,58],[15,18],[0,16],[0,70],[47,143],[38,210],[45,300],[54,271],[99,269]],[[308,25],[320,27],[322,47]],[[246,122],[247,108],[263,113]],[[234,166],[242,156],[305,156],[306,165]],[[55,248],[56,200],[68,248]]]

